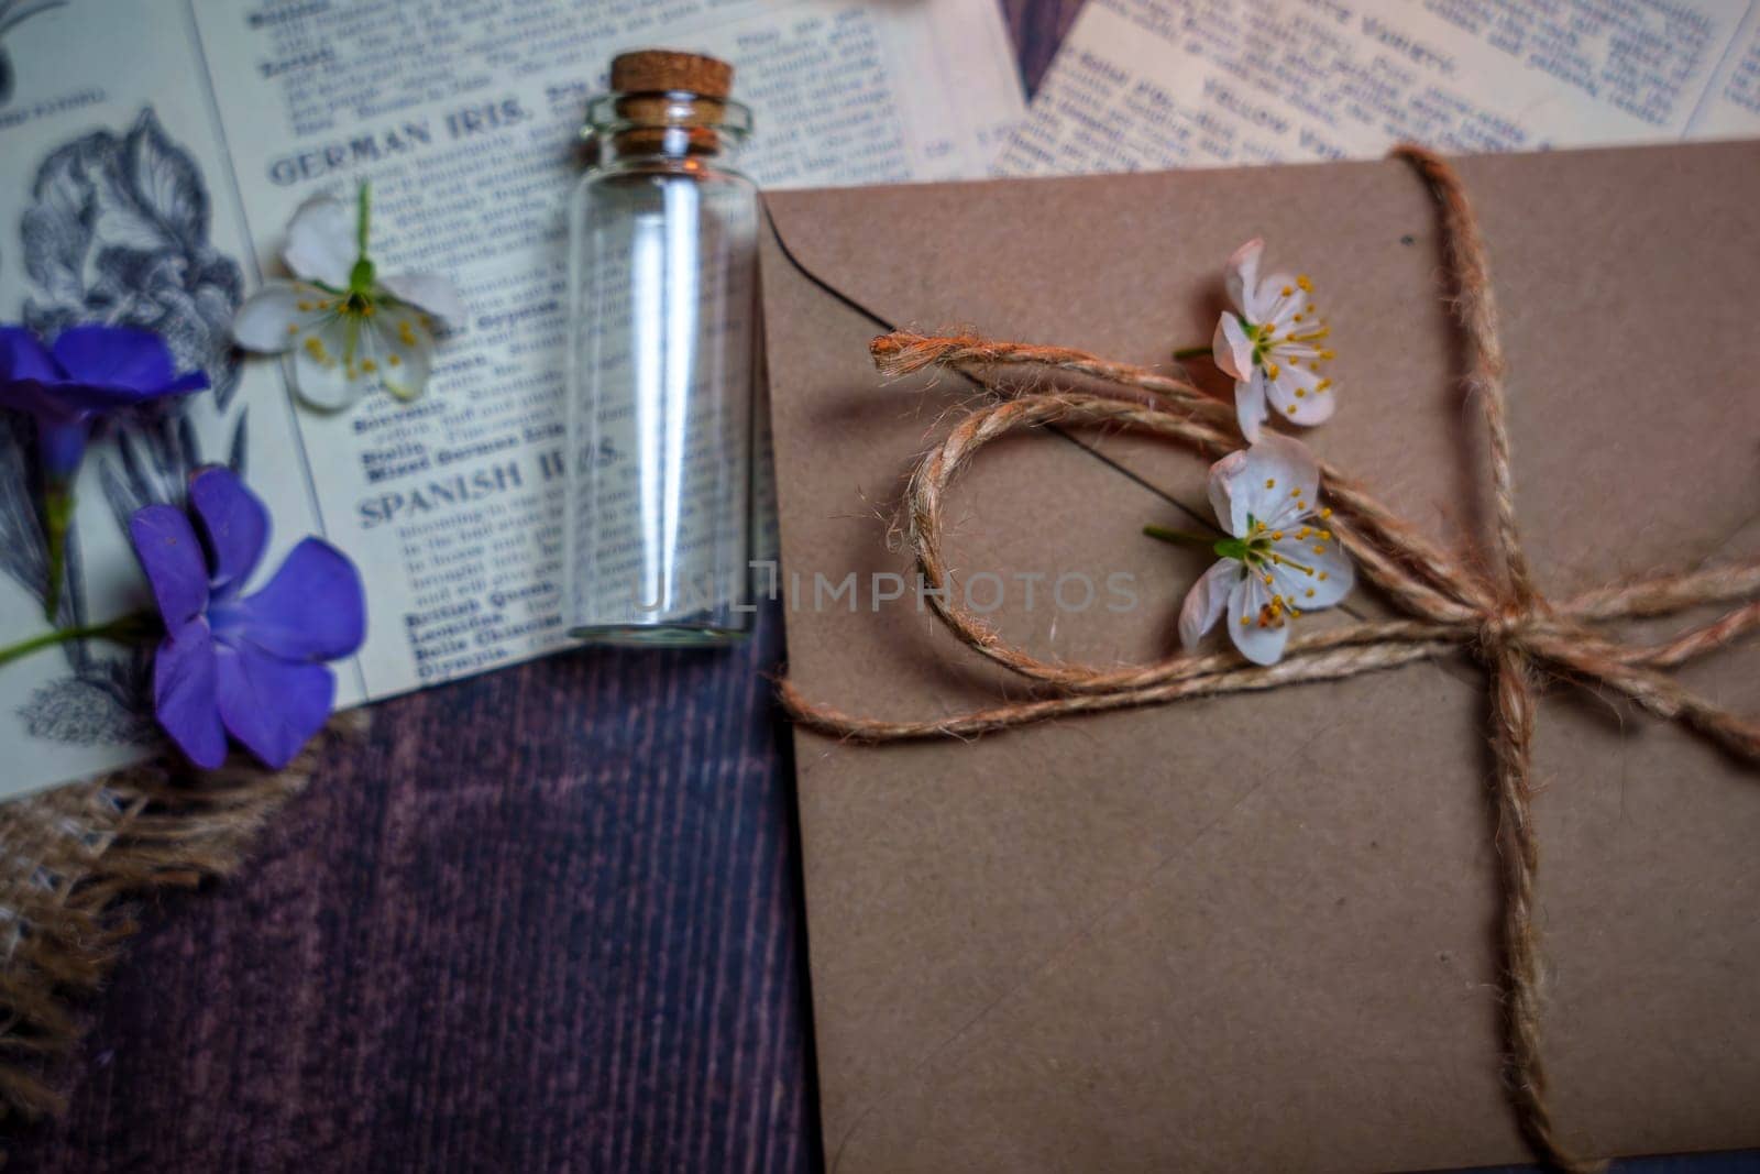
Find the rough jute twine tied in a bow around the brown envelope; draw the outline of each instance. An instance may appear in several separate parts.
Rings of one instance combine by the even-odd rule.
[[[1507,1068],[1517,1121],[1535,1155],[1563,1170],[1596,1170],[1559,1139],[1547,1107],[1542,1063],[1542,961],[1535,926],[1540,862],[1533,825],[1529,760],[1536,674],[1545,671],[1630,697],[1660,718],[1681,722],[1746,762],[1760,760],[1760,723],[1688,690],[1667,671],[1760,627],[1760,560],[1709,570],[1665,574],[1584,591],[1565,600],[1540,593],[1515,523],[1515,477],[1503,384],[1498,308],[1478,224],[1459,176],[1440,157],[1401,146],[1396,157],[1426,180],[1441,209],[1454,282],[1454,310],[1466,340],[1466,391],[1489,435],[1491,496],[1496,507],[1494,565],[1478,570],[1443,551],[1382,505],[1360,482],[1322,463],[1331,486],[1332,532],[1357,567],[1406,618],[1366,621],[1294,635],[1281,662],[1257,667],[1236,653],[1177,655],[1148,665],[1100,667],[1040,660],[1007,644],[949,591],[942,554],[943,495],[979,449],[1008,433],[1040,426],[1105,426],[1144,431],[1218,458],[1239,449],[1234,407],[1183,378],[1111,363],[1079,350],[994,341],[970,334],[929,338],[891,333],[873,341],[885,375],[926,368],[957,370],[1008,394],[994,371],[1037,368],[1100,380],[1118,394],[1037,391],[979,407],[926,454],[905,491],[905,542],[915,554],[935,614],[970,649],[1033,683],[1035,697],[922,722],[852,716],[808,701],[780,681],[781,702],[808,729],[861,743],[972,737],[1016,725],[1082,713],[1153,706],[1186,697],[1269,690],[1301,681],[1334,681],[1466,648],[1491,678],[1494,785],[1503,864],[1501,943],[1507,986]],[[1596,627],[1614,620],[1667,616],[1688,607],[1728,605],[1718,620],[1676,639],[1640,646]]]

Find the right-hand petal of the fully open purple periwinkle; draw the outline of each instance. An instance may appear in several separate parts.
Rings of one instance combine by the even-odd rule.
[[[289,660],[336,660],[366,639],[366,593],[348,556],[304,539],[255,595],[215,609],[215,630]]]

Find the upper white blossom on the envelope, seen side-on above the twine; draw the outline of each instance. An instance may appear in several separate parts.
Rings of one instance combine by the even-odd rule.
[[[1258,276],[1265,243],[1251,239],[1228,257],[1225,282],[1234,310],[1225,310],[1211,340],[1216,366],[1234,377],[1241,435],[1258,440],[1269,412],[1313,426],[1332,415],[1336,393],[1320,364],[1332,359],[1322,343],[1327,324],[1313,303],[1306,275]]]

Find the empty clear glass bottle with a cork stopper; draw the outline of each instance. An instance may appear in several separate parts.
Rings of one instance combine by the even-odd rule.
[[[588,104],[568,202],[570,635],[723,644],[750,632],[757,185],[732,67],[627,53]]]

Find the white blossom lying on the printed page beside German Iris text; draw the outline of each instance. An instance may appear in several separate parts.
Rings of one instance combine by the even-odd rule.
[[[431,275],[380,278],[366,253],[368,192],[357,209],[315,195],[287,224],[292,282],[266,282],[232,319],[246,350],[287,354],[294,391],[340,410],[375,385],[415,400],[428,385],[435,333],[465,319],[452,283]]]

